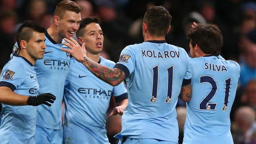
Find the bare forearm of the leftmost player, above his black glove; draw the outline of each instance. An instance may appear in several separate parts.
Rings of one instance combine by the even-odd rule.
[[[16,94],[9,87],[0,87],[0,103],[7,105],[28,105],[28,96]]]

